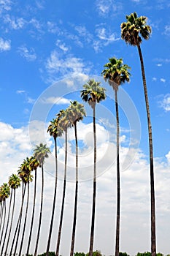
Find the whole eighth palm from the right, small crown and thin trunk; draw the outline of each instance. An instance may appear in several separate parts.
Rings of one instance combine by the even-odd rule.
[[[33,208],[32,208],[32,216],[31,216],[31,227],[29,232],[29,238],[28,238],[28,245],[26,250],[26,255],[29,254],[29,248],[31,244],[31,236],[32,236],[32,230],[33,230],[33,224],[34,224],[34,213],[35,213],[35,205],[36,205],[36,170],[39,167],[39,162],[36,160],[35,157],[30,157],[30,163],[29,163],[31,170],[34,170],[34,200],[33,200]]]

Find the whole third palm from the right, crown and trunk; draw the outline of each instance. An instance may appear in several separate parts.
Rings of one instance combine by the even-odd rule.
[[[94,224],[95,224],[95,209],[96,209],[96,103],[104,100],[105,89],[100,86],[100,82],[90,79],[88,83],[83,86],[81,91],[82,100],[88,102],[93,109],[93,138],[94,138],[94,171],[93,171],[93,207],[91,217],[91,231],[90,231],[90,249],[89,256],[93,255],[93,240],[94,240]]]

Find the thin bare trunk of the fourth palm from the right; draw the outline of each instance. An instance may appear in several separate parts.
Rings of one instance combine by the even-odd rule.
[[[77,123],[74,124],[75,141],[76,141],[76,187],[75,187],[75,201],[74,201],[74,220],[72,229],[72,245],[70,256],[74,254],[74,241],[75,241],[75,231],[76,231],[76,220],[77,220],[77,197],[78,197],[78,140],[77,140]]]

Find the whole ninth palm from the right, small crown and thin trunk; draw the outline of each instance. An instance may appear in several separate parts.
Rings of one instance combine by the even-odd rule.
[[[30,181],[33,180],[33,176],[31,175],[31,158],[26,158],[23,160],[23,164],[21,165],[21,170],[23,171],[23,173],[26,173],[26,184],[27,184],[27,203],[26,203],[26,214],[25,214],[25,219],[24,219],[24,223],[23,223],[23,234],[22,234],[22,238],[20,241],[20,251],[19,251],[19,256],[21,255],[22,249],[23,249],[23,239],[24,239],[24,235],[26,232],[26,221],[27,221],[27,215],[28,215],[28,204],[29,204],[29,183]]]

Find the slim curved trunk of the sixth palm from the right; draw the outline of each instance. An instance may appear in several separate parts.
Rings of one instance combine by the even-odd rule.
[[[57,180],[58,180],[57,138],[55,137],[54,137],[54,143],[55,143],[55,189],[54,189],[54,197],[53,197],[53,209],[52,209],[51,222],[50,222],[50,232],[49,232],[48,241],[47,241],[46,256],[48,256],[49,249],[50,249],[50,241],[51,241],[51,235],[53,230],[53,220],[54,220],[54,212],[55,212]]]

